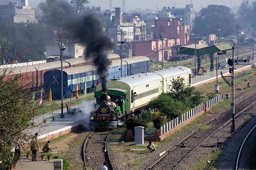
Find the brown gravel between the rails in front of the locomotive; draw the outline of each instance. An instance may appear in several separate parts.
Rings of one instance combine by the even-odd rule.
[[[88,169],[100,169],[105,159],[105,139],[109,132],[95,132],[88,139],[85,148],[86,167]]]

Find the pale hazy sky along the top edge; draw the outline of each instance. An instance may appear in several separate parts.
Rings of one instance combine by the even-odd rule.
[[[11,0],[0,0],[0,3],[8,3]],[[68,0],[67,0],[68,1]],[[101,9],[109,9],[110,0],[88,0],[89,6],[101,6]],[[161,9],[163,7],[177,7],[184,8],[186,4],[190,4],[191,0],[125,0],[126,1],[126,12],[134,9],[146,9],[150,8],[154,11],[157,8]],[[232,8],[237,8],[243,0],[192,0],[194,8],[199,11],[201,8],[208,6],[209,4],[221,4],[230,7],[230,2]],[[252,2],[253,0],[250,0]],[[30,6],[35,7],[40,2],[45,2],[45,0],[28,0]],[[112,0],[112,7],[122,7],[122,0]]]

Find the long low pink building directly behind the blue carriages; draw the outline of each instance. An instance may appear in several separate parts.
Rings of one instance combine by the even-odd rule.
[[[164,60],[172,56],[171,47],[180,44],[179,39],[165,39]],[[162,41],[132,41],[131,42],[132,56],[146,56],[154,62],[162,61]]]

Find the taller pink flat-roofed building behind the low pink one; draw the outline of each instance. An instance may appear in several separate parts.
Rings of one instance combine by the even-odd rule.
[[[189,25],[181,24],[180,19],[160,18],[155,19],[155,25],[151,27],[153,38],[160,39],[160,33],[167,39],[180,39],[180,44],[189,42]]]

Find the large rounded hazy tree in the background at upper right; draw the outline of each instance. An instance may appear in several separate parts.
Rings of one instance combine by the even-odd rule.
[[[195,18],[197,32],[216,33],[220,27],[221,35],[228,36],[235,33],[235,17],[231,9],[226,6],[211,4],[200,10],[200,16]]]

